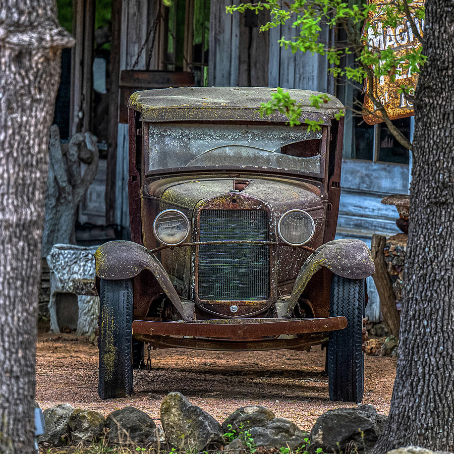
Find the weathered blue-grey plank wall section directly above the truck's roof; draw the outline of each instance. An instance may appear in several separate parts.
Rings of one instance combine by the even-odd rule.
[[[248,85],[248,47],[251,46],[252,86],[301,88],[332,91],[328,85],[328,63],[322,55],[296,52],[280,47],[278,40],[295,37],[298,31],[288,23],[272,28],[268,33],[259,33],[254,28],[252,40],[245,26],[245,14],[226,14],[225,7],[234,0],[211,0],[210,11],[210,60],[209,85]],[[259,25],[268,19],[265,11],[259,14]],[[321,40],[328,42],[325,27]]]

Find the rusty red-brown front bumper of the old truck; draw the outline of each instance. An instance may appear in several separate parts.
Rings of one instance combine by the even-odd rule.
[[[344,329],[347,319],[329,318],[241,318],[220,320],[197,320],[159,322],[150,320],[134,320],[133,335],[147,336],[190,336],[204,338],[221,338],[238,340],[260,339],[281,334],[309,334]]]

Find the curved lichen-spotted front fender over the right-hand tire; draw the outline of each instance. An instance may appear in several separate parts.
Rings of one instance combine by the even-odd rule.
[[[290,296],[287,315],[292,313],[307,283],[322,266],[338,276],[350,279],[363,279],[375,271],[370,250],[363,241],[344,239],[322,244],[301,267]]]

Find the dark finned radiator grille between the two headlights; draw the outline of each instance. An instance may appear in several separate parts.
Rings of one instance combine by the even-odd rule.
[[[268,240],[265,210],[202,210],[200,240]],[[201,300],[264,301],[269,298],[268,245],[199,246]]]

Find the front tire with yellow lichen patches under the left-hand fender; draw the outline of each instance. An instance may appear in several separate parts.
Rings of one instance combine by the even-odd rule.
[[[100,282],[99,379],[101,399],[116,399],[133,392],[132,281]]]

